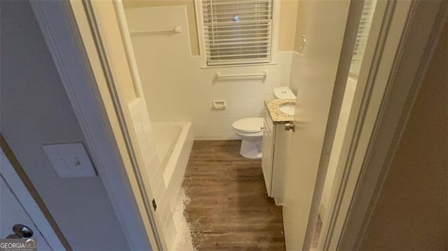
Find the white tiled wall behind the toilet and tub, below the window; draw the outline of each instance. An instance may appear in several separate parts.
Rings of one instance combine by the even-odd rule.
[[[164,29],[180,25],[172,35],[132,36],[132,44],[151,120],[191,121],[196,139],[237,138],[232,123],[262,117],[263,100],[274,87],[288,85],[291,52],[278,52],[276,64],[201,69],[199,56],[189,52],[188,18],[183,6],[126,10],[130,29]],[[165,20],[160,24],[160,20]],[[262,73],[265,80],[216,80],[215,74]],[[227,100],[227,110],[213,110],[214,99]]]

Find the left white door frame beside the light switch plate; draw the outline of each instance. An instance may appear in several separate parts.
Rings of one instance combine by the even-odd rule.
[[[73,13],[71,4],[83,3],[30,2],[130,249],[161,250],[148,202],[151,190],[142,187],[123,109],[110,89],[113,83],[106,69],[102,78],[94,75],[78,26],[84,20]],[[87,19],[82,8],[76,10]]]

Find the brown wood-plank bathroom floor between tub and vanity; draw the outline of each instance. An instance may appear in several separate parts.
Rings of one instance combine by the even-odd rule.
[[[195,141],[183,187],[197,250],[285,250],[281,207],[266,193],[261,161],[241,141]]]

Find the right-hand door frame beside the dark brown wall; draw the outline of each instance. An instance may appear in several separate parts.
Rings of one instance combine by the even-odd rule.
[[[358,250],[447,20],[443,0],[378,3],[318,250]]]

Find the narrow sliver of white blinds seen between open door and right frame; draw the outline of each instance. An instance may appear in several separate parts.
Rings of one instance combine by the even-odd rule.
[[[372,25],[372,17],[376,6],[376,0],[365,0],[363,6],[363,13],[361,14],[360,23],[358,27],[358,34],[356,36],[355,48],[353,50],[353,57],[351,58],[350,72],[358,76],[361,63],[364,57],[365,45],[369,37],[370,26]]]

